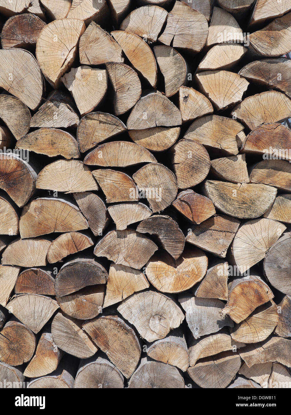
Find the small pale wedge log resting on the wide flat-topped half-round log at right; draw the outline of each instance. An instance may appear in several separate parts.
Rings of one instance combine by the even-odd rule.
[[[233,183],[249,183],[245,154],[211,160],[210,171],[220,180]]]

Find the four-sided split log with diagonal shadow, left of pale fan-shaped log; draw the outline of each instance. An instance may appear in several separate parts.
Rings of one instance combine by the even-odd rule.
[[[189,229],[186,242],[215,256],[225,258],[240,221],[226,215],[216,215]]]

